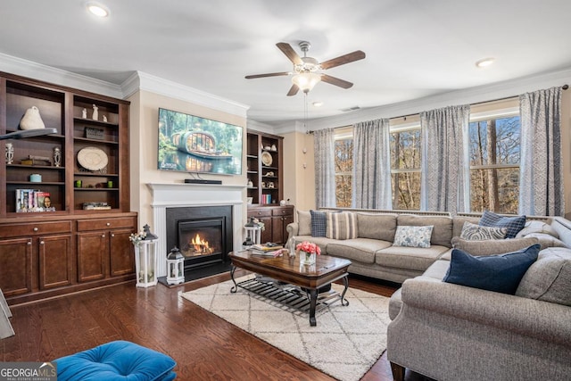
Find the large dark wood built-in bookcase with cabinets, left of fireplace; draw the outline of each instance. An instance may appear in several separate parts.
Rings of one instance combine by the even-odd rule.
[[[7,301],[134,279],[128,101],[0,72],[0,134],[20,129],[32,107],[57,132],[0,142],[2,152],[12,152],[0,158],[0,288]]]

